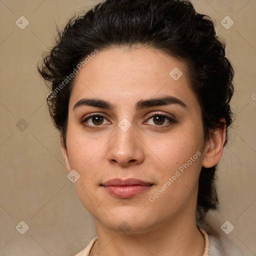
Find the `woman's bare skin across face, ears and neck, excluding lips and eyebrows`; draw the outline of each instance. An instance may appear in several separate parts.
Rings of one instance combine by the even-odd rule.
[[[174,67],[183,73],[178,80],[169,75]],[[186,107],[135,108],[142,99],[166,95]],[[82,98],[104,99],[115,108],[83,105],[73,110]],[[102,124],[93,118],[80,122],[90,113],[103,115]],[[176,122],[163,119],[159,125],[151,117],[155,113]],[[69,100],[66,147],[62,137],[61,147],[67,170],[80,174],[74,183],[77,195],[94,217],[98,241],[90,255],[202,255],[204,238],[195,223],[198,177],[201,166],[219,161],[225,128],[212,131],[204,144],[200,113],[185,64],[159,50],[100,50],[78,72]],[[131,124],[127,131],[118,126],[123,118]],[[201,155],[150,202],[149,196],[197,151]],[[153,185],[134,197],[116,198],[100,185],[111,178],[138,178]],[[126,233],[118,228],[123,221],[130,228]]]

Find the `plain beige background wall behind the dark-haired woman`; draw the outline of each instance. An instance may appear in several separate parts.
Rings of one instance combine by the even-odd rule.
[[[95,236],[93,218],[66,177],[46,108],[48,91],[36,73],[42,52],[52,45],[55,24],[63,27],[74,11],[94,2],[0,0],[0,256],[74,255]],[[236,121],[219,164],[214,226],[244,255],[256,255],[256,1],[192,2],[215,19],[235,68]],[[15,24],[21,15],[29,21],[24,29]],[[229,29],[220,23],[226,15],[234,21]],[[15,228],[21,220],[29,226],[24,234]],[[234,226],[228,235],[220,229],[226,220]]]

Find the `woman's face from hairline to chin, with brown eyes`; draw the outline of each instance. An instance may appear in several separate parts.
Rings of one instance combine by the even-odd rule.
[[[159,50],[116,47],[76,75],[62,150],[67,170],[80,175],[80,201],[102,226],[126,221],[138,233],[194,218],[205,153],[186,73]]]

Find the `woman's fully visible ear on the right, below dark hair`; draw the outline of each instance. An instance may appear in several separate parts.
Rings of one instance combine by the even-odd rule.
[[[223,118],[221,121],[225,122],[225,119]],[[210,168],[219,162],[226,137],[225,130],[226,125],[216,128],[209,134],[209,139],[204,148],[203,167]]]

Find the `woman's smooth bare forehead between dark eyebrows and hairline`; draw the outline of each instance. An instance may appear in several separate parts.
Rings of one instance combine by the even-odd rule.
[[[162,95],[195,101],[186,65],[157,49],[114,47],[100,50],[81,67],[69,103],[73,106],[82,97],[98,97],[117,105],[135,104]]]

